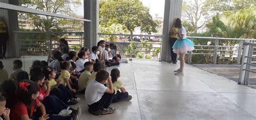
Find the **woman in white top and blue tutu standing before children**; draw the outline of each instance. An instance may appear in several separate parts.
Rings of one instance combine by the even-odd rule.
[[[178,36],[178,40],[173,44],[173,53],[179,55],[180,59],[180,68],[175,70],[176,75],[183,75],[184,74],[184,65],[185,65],[185,54],[187,51],[194,50],[194,42],[190,39],[187,39],[186,29],[181,25],[181,20],[177,18],[175,20],[174,27],[178,28],[178,32],[175,34]]]

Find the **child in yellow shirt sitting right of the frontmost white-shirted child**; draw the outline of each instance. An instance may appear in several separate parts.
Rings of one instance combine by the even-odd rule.
[[[126,92],[126,89],[123,87],[122,81],[118,79],[120,77],[120,71],[118,69],[112,69],[110,76],[115,92],[112,103],[119,101],[130,101],[132,99],[132,96],[129,95],[128,92]],[[107,83],[107,87],[109,87],[109,83]],[[119,91],[119,89],[121,90],[121,92]]]

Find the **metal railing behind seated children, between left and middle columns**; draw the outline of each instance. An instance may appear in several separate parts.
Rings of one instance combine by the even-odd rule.
[[[59,38],[65,38],[70,49],[77,50],[82,47],[84,32],[23,32],[16,31],[17,51],[22,55],[51,55],[53,49],[57,49]],[[73,47],[72,47],[73,46]],[[77,47],[77,48],[76,48]]]

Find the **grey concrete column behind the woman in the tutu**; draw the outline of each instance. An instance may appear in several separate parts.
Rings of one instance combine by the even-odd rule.
[[[165,36],[162,42],[161,59],[169,62],[171,60],[171,50],[169,43],[169,30],[173,25],[174,18],[181,18],[182,0],[165,0],[164,8],[164,28],[163,35]]]

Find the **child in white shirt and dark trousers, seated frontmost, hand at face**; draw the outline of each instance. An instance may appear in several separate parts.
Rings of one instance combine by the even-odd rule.
[[[109,88],[104,84],[109,82]],[[96,74],[96,79],[92,80],[85,89],[85,101],[89,106],[89,112],[93,115],[113,114],[116,109],[109,107],[114,96],[114,89],[109,77],[109,73],[101,70]]]

